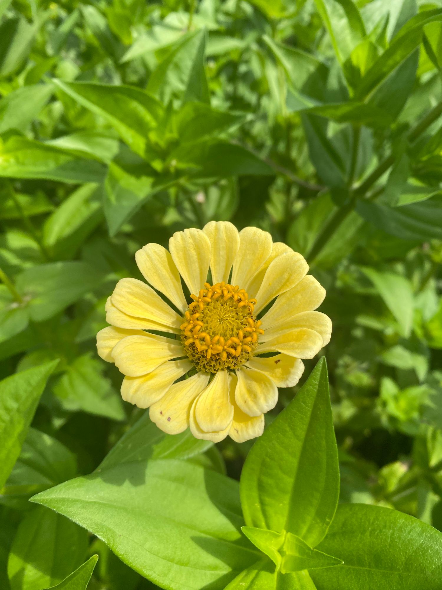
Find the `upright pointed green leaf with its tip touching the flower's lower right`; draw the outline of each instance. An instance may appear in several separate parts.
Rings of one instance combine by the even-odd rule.
[[[339,496],[324,358],[253,445],[242,470],[240,493],[247,526],[285,530],[311,547],[324,538]]]

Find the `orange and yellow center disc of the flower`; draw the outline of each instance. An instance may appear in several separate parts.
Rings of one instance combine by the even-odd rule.
[[[253,317],[256,299],[228,283],[204,283],[184,314],[181,339],[198,371],[236,369],[253,356],[261,322]]]

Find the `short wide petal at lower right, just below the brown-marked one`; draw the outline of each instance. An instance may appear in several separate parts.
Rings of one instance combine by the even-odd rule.
[[[245,414],[258,417],[275,407],[278,388],[265,373],[243,366],[236,376],[235,401]]]

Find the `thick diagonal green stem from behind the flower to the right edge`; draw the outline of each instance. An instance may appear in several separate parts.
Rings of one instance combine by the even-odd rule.
[[[413,144],[417,139],[425,132],[425,130],[430,127],[432,123],[434,123],[442,114],[442,101],[436,104],[433,109],[429,113],[425,115],[425,117],[417,123],[413,129],[410,130],[408,133],[407,139],[408,142]],[[387,170],[394,164],[394,155],[390,154],[385,160],[383,160],[377,168],[362,182],[361,185],[355,187],[352,190],[352,198],[351,201],[344,205],[344,207],[339,208],[335,213],[332,215],[331,219],[329,219],[328,223],[319,233],[316,241],[308,255],[308,262],[312,264],[315,259],[318,257],[318,254],[321,253],[323,248],[325,247],[326,243],[331,239],[334,232],[338,229],[338,227],[342,224],[342,222],[347,219],[348,215],[353,211],[357,199],[361,196],[365,196],[367,192],[371,189],[375,182],[378,181],[381,176],[387,172]]]

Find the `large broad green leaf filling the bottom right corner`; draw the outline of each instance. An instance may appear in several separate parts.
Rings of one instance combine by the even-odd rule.
[[[396,510],[340,504],[318,549],[344,561],[311,571],[318,590],[440,588],[442,533]]]

